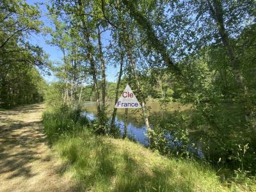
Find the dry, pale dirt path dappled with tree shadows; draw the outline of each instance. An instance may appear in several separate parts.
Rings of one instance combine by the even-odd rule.
[[[73,191],[42,130],[43,104],[0,111],[0,191]]]

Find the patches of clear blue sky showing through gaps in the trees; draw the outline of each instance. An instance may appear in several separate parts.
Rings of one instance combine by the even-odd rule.
[[[40,3],[40,10],[42,12],[40,20],[42,20],[44,22],[44,26],[51,27],[51,21],[47,17],[47,8],[44,6],[44,4],[42,4],[42,3],[46,3],[46,2],[47,1],[44,1],[44,0],[36,0],[36,1],[27,0],[28,4]],[[49,60],[51,60],[52,63],[61,62],[62,61],[61,58],[62,58],[63,54],[60,51],[60,49],[58,49],[58,47],[56,47],[56,46],[49,45],[46,43],[46,41],[50,40],[50,39],[51,39],[50,35],[43,36],[42,34],[32,34],[31,37],[29,38],[29,42],[31,44],[39,45],[40,47],[42,47],[44,49],[44,52],[49,55]],[[102,45],[103,46],[107,44],[108,39],[109,39],[108,33],[103,33],[102,34]],[[115,82],[116,78],[117,78],[116,77],[117,73],[118,73],[117,68],[107,65],[107,68],[106,68],[107,81]],[[51,76],[46,76],[46,75],[43,75],[43,76],[44,76],[44,79],[48,83],[58,80],[54,76],[54,74],[52,74]]]

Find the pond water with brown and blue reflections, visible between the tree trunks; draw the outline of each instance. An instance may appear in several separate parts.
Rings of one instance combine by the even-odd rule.
[[[107,111],[111,114],[113,111],[114,103],[107,103],[108,106]],[[161,106],[159,102],[147,102],[148,112],[149,114],[157,113],[161,111],[161,108],[165,108],[168,111],[186,111],[189,109],[189,106],[181,106],[177,103],[169,103],[166,106]],[[97,105],[96,102],[85,102],[84,109],[86,112],[83,113],[89,120],[93,120],[95,118],[95,114],[97,113]],[[124,111],[125,109],[117,109],[115,123],[120,127],[121,134],[124,134]],[[154,128],[153,128],[154,129]],[[144,146],[148,146],[148,138],[147,138],[147,129],[145,123],[143,122],[141,109],[129,109],[128,113],[128,125],[127,125],[127,134],[130,138],[138,141]],[[170,135],[170,137],[172,137]],[[170,146],[174,145],[182,145],[182,143],[170,143]],[[199,146],[196,146],[196,150],[194,147],[190,146],[188,148],[189,151],[195,152],[199,157],[204,157],[202,150]]]

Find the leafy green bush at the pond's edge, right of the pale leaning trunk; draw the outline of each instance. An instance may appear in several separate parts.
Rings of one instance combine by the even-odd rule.
[[[151,148],[158,150],[161,154],[171,156],[189,157],[193,150],[189,150],[188,125],[184,116],[179,112],[168,115],[153,115],[153,130],[148,134],[153,138]],[[190,147],[190,148],[189,148]]]

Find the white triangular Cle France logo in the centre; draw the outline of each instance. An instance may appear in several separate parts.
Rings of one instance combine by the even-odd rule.
[[[141,108],[140,102],[136,99],[129,84],[116,102],[115,108]]]

